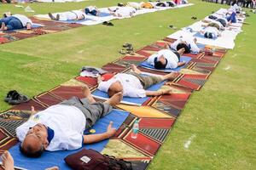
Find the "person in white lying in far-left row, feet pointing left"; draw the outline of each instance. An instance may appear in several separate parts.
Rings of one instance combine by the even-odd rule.
[[[86,14],[84,13],[84,10],[72,10],[67,11],[63,13],[58,13],[55,16],[51,13],[48,13],[49,18],[51,20],[84,20],[86,18]]]

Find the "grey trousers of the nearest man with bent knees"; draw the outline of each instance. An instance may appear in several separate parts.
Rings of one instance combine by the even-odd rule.
[[[79,99],[78,97],[64,100],[60,105],[73,105],[79,108],[86,118],[86,129],[92,127],[99,118],[107,115],[113,109],[111,105],[106,103],[96,102],[91,104],[88,99]]]

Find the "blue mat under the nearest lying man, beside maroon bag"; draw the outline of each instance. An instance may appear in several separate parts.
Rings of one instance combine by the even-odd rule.
[[[121,124],[125,122],[127,116],[129,116],[129,112],[113,110],[107,116],[104,116],[102,119],[96,122],[96,124],[92,128],[96,129],[96,133],[104,133],[106,132],[109,122],[112,121],[113,127],[118,129]],[[84,133],[88,133],[88,131]],[[106,144],[108,144],[108,139],[98,142],[96,144],[86,144],[84,147],[86,149],[102,151]],[[70,169],[65,163],[64,158],[70,154],[82,150],[63,150],[54,152],[45,151],[43,156],[39,158],[27,158],[26,156],[21,155],[19,145],[20,144],[16,144],[9,150],[9,152],[15,159],[15,166],[37,170],[54,166],[58,166],[61,170]]]

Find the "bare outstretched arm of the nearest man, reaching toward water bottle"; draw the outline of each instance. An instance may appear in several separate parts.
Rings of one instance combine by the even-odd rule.
[[[113,136],[113,134],[116,132],[116,129],[112,127],[113,122],[110,122],[108,125],[108,129],[106,133],[99,133],[99,134],[87,134],[84,135],[84,144],[91,144],[100,142],[104,139],[109,139]]]

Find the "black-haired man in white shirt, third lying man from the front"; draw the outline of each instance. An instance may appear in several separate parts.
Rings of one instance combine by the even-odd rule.
[[[149,56],[147,62],[158,70],[175,69],[186,64],[186,62],[180,61],[180,56],[184,53],[185,47],[186,44],[183,43],[177,45],[177,51],[161,49],[156,54]]]

